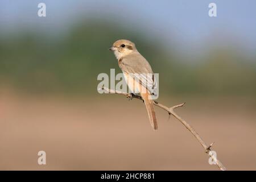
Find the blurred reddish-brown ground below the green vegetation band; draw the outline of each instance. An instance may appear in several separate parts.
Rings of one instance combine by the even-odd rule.
[[[229,170],[256,170],[256,112],[250,98],[161,98],[187,102],[177,111]],[[0,97],[2,170],[217,170],[187,129],[156,108],[153,131],[142,101],[95,98]],[[47,154],[39,166],[38,151]]]

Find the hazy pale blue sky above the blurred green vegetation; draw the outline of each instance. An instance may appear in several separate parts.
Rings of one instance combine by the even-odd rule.
[[[47,6],[47,17],[38,18],[38,3]],[[208,16],[208,5],[217,5],[217,17]],[[221,40],[239,43],[242,51],[256,52],[256,1],[72,1],[72,0],[1,0],[0,32],[19,28],[40,28],[43,31],[65,31],[80,18],[119,19],[121,26],[134,24],[148,35],[163,38],[166,44],[175,41],[179,50],[201,49],[205,43]],[[127,27],[132,28],[132,27]],[[170,34],[171,32],[171,34]],[[173,37],[175,35],[175,37]],[[225,41],[222,42],[225,44]],[[229,43],[229,44],[230,44]]]

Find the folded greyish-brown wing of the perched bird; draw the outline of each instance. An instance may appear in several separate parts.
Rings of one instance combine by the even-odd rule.
[[[138,80],[151,94],[155,94],[155,75],[148,61],[139,52],[123,57],[119,66],[123,72]]]

